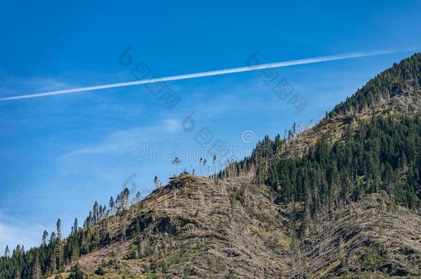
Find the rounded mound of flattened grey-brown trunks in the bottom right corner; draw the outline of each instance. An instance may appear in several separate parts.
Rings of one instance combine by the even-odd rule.
[[[419,276],[421,216],[371,194],[320,217],[300,251],[297,276]]]

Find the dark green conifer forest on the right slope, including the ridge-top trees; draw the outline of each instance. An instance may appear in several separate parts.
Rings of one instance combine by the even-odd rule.
[[[256,183],[275,191],[278,202],[305,203],[304,218],[315,218],[340,203],[362,194],[386,192],[411,209],[420,207],[421,123],[411,103],[375,113],[376,104],[407,93],[420,99],[421,54],[414,54],[371,79],[344,103],[335,106],[321,123],[342,116],[344,135],[333,142],[333,133],[322,135],[303,156],[279,156],[297,136],[296,125],[272,141],[265,136],[251,156],[235,162],[220,177],[255,172]],[[416,96],[411,96],[416,95]],[[368,118],[358,113],[371,112]],[[317,128],[317,127],[315,127]]]

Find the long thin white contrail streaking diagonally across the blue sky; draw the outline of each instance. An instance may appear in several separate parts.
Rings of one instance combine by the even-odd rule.
[[[326,61],[358,58],[358,57],[364,57],[364,56],[390,54],[390,53],[395,53],[395,52],[400,52],[400,51],[402,50],[375,50],[371,52],[352,52],[352,53],[347,53],[347,54],[318,56],[318,57],[312,57],[312,58],[306,58],[306,59],[266,63],[266,64],[260,64],[260,65],[251,65],[251,66],[246,66],[246,67],[215,70],[215,71],[209,71],[209,72],[197,72],[194,74],[181,74],[177,76],[165,76],[165,77],[155,78],[155,79],[141,79],[139,81],[128,81],[124,83],[110,83],[110,84],[104,84],[104,85],[79,87],[79,88],[43,92],[43,93],[37,93],[37,94],[10,96],[6,98],[1,98],[0,101],[37,98],[37,97],[52,96],[52,95],[59,95],[59,94],[70,94],[70,93],[83,92],[83,91],[100,90],[100,89],[114,88],[114,87],[125,87],[125,86],[133,86],[133,85],[140,85],[140,84],[146,84],[146,83],[157,83],[157,82],[163,82],[163,81],[178,81],[180,79],[194,79],[194,78],[198,78],[202,76],[217,76],[219,74],[233,74],[236,72],[248,72],[248,71],[263,70],[263,69],[268,69],[268,68],[280,68],[280,67],[288,67],[288,66],[293,66],[293,65],[303,65],[303,64],[320,63],[320,62],[326,62]]]

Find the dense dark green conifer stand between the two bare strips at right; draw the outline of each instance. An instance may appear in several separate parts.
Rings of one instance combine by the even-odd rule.
[[[397,203],[420,206],[421,117],[374,117],[352,138],[322,138],[302,157],[275,160],[266,183],[282,201],[302,201],[304,214],[362,194],[384,191]],[[418,195],[417,195],[418,192]]]

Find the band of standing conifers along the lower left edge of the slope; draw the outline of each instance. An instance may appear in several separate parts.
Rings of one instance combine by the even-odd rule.
[[[116,214],[123,214],[131,204],[140,200],[140,193],[130,200],[130,192],[125,188],[117,198],[110,198],[109,207],[97,202],[89,211],[83,227],[79,227],[78,220],[72,226],[70,236],[63,238],[61,234],[61,220],[57,220],[57,233],[52,231],[48,239],[48,232],[44,231],[40,247],[25,251],[23,246],[17,247],[10,254],[7,247],[5,256],[0,258],[0,278],[46,278],[59,271],[70,262],[74,262],[81,255],[88,254],[101,245],[108,243],[108,237],[99,234],[95,224],[106,221]],[[74,269],[75,278],[81,271]]]

